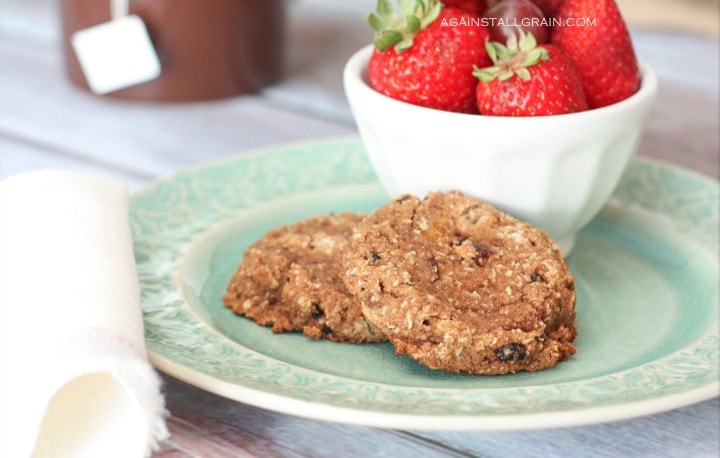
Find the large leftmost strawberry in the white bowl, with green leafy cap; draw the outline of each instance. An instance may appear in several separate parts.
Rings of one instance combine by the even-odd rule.
[[[476,113],[475,66],[490,64],[484,48],[488,31],[479,17],[439,0],[399,2],[401,16],[387,0],[368,16],[376,31],[368,64],[370,85],[415,105]]]

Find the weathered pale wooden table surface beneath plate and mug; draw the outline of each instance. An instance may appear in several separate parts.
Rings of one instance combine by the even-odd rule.
[[[157,104],[90,95],[65,77],[56,2],[1,0],[0,177],[40,168],[119,177],[132,190],[179,169],[285,142],[352,135],[341,70],[371,39],[374,0],[288,3],[285,77],[262,93]],[[717,12],[715,12],[717,14]],[[639,154],[720,175],[717,37],[632,30],[660,97]],[[632,420],[510,432],[351,426],[262,410],[164,376],[172,436],[157,457],[688,456],[720,453],[718,398]]]

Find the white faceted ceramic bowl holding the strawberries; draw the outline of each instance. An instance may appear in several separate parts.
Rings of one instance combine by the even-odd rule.
[[[642,86],[604,108],[541,117],[451,113],[373,90],[372,46],[344,70],[345,93],[375,172],[391,195],[457,189],[544,229],[565,255],[602,208],[637,150],[657,95],[641,62]]]

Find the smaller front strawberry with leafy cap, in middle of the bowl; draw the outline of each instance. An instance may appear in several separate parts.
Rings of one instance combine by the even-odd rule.
[[[476,69],[480,114],[494,116],[545,116],[587,110],[580,75],[562,51],[553,45],[537,46],[532,34],[519,31],[507,46],[488,42],[495,64]]]

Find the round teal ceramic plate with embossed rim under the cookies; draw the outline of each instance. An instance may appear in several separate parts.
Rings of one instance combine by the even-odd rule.
[[[568,260],[577,354],[542,372],[467,376],[387,343],[273,334],[226,309],[245,247],[267,230],[389,200],[354,137],[230,157],[131,199],[148,352],[236,401],[391,428],[559,427],[689,405],[720,392],[719,194],[714,180],[634,160]]]

